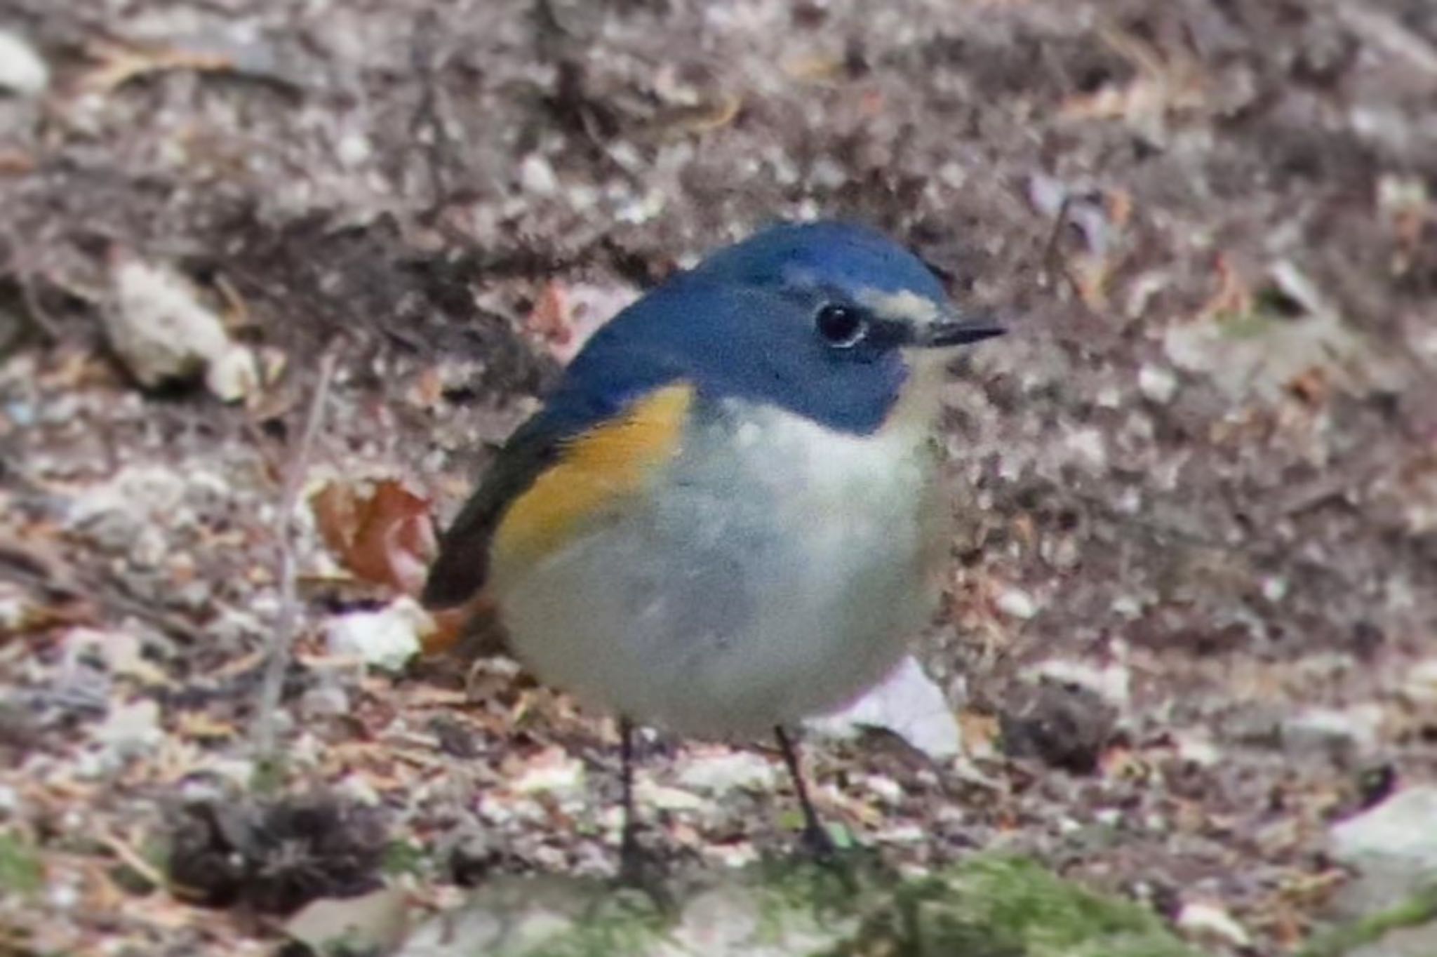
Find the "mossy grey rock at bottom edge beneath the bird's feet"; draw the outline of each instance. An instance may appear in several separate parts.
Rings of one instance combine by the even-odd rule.
[[[854,861],[704,871],[668,881],[673,905],[568,877],[493,878],[418,927],[398,957],[798,957],[862,953],[1196,957],[1151,911],[1020,859],[974,856],[905,881]]]

